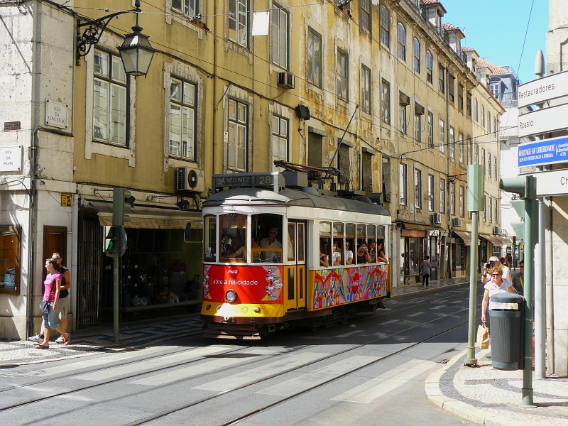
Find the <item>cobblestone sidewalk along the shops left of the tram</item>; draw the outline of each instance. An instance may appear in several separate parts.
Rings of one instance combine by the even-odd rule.
[[[201,333],[199,314],[154,320],[146,324],[125,324],[120,327],[120,342],[114,343],[113,328],[79,330],[71,334],[71,344],[56,344],[51,339],[49,349],[35,349],[36,343],[26,340],[0,341],[0,367],[13,364],[35,364],[57,359],[88,356],[109,351],[128,350],[163,339]]]

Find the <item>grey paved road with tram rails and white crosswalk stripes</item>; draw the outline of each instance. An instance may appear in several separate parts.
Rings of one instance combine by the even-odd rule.
[[[479,291],[481,293],[481,291]],[[427,400],[429,373],[466,347],[468,288],[261,342],[173,339],[0,370],[6,425],[463,425]]]

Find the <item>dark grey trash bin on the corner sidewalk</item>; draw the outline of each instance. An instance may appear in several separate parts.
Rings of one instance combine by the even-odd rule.
[[[512,293],[491,296],[491,302],[517,303],[517,309],[489,310],[491,336],[491,364],[498,370],[523,368],[523,320],[525,298]],[[510,306],[510,305],[509,305]]]

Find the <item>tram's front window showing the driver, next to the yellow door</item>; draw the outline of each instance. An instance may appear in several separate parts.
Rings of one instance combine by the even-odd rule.
[[[282,230],[282,216],[280,214],[253,214],[252,241],[258,241],[258,248],[253,247],[251,250],[254,262],[282,262]]]

